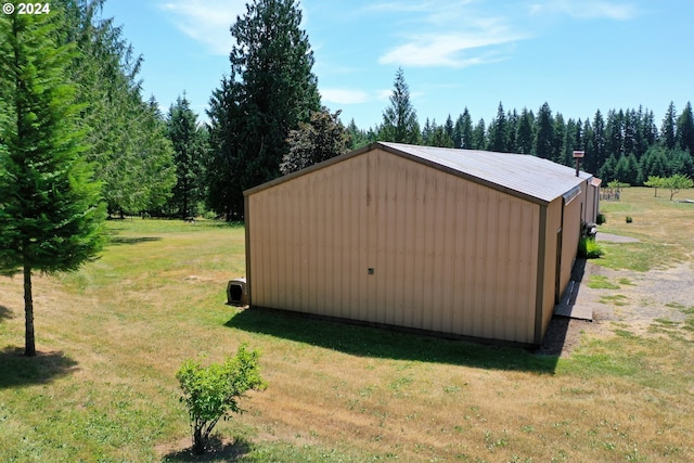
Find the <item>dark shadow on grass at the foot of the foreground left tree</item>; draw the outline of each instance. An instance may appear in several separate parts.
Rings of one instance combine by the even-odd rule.
[[[46,384],[77,370],[77,362],[63,352],[24,356],[24,349],[9,346],[0,350],[0,389]]]

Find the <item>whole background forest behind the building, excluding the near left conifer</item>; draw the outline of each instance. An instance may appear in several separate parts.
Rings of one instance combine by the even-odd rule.
[[[294,0],[254,0],[231,25],[236,46],[230,74],[211,92],[208,121],[191,110],[184,89],[164,113],[154,97],[142,94],[142,56],[115,18],[102,17],[104,2],[56,0],[53,39],[78,51],[65,80],[74,85],[80,107],[85,157],[114,217],[242,220],[244,190],[377,140],[531,154],[565,165],[581,150],[582,169],[605,183],[694,176],[690,102],[679,113],[671,102],[665,115],[639,106],[597,110],[578,120],[565,119],[549,103],[518,111],[500,102],[489,123],[475,121],[467,108],[437,123],[417,116],[400,68],[383,123],[369,129],[354,120],[345,125],[339,111],[321,105]],[[10,56],[9,49],[2,52]],[[10,101],[0,91],[0,105],[8,108]],[[0,139],[0,154],[5,145]]]

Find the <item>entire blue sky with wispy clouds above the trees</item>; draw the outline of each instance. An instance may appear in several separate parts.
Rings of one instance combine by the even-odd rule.
[[[144,57],[140,77],[167,111],[185,91],[205,108],[229,74],[230,25],[244,0],[108,0]],[[322,103],[367,129],[382,121],[402,67],[420,124],[468,108],[592,118],[638,108],[659,124],[694,100],[692,0],[303,0]]]

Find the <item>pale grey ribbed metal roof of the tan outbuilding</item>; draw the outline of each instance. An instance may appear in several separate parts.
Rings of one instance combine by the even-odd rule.
[[[414,160],[444,167],[463,177],[477,179],[510,193],[551,203],[593,176],[548,159],[527,155],[451,147],[415,146],[378,142],[388,151]]]

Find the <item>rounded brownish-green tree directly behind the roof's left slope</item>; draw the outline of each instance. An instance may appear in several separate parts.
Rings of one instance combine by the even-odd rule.
[[[299,123],[290,131],[290,152],[284,155],[280,170],[295,172],[313,164],[339,156],[349,151],[349,134],[339,121],[339,111],[331,114],[326,107],[311,114],[310,123]]]

